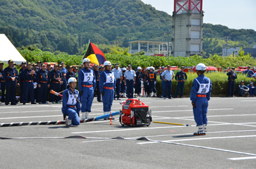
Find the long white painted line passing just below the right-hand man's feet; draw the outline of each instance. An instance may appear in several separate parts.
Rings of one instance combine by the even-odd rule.
[[[186,142],[186,141],[194,141],[194,140],[211,140],[211,139],[225,139],[225,138],[246,138],[246,137],[256,137],[256,135],[218,136],[218,137],[207,137],[207,138],[189,138],[189,139],[180,139],[180,140],[164,140],[162,142]],[[138,143],[138,144],[145,144],[145,143],[158,143],[158,142],[143,142],[143,143]]]

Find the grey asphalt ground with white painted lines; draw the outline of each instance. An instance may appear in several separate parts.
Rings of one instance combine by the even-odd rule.
[[[193,136],[189,98],[140,101],[152,110],[153,121],[191,126],[121,126],[115,116],[113,125],[2,127],[0,137],[17,139],[0,140],[1,168],[256,168],[256,98],[211,98],[205,136]],[[113,101],[112,112],[121,108]],[[94,99],[89,116],[99,115],[103,106]],[[61,104],[0,105],[0,123],[62,120]]]

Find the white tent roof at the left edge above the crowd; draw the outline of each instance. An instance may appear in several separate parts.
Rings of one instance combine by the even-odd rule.
[[[16,64],[26,62],[20,52],[12,45],[5,34],[0,34],[0,61],[8,62],[10,59]]]

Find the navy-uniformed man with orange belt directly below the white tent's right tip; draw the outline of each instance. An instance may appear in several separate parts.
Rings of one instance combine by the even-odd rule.
[[[36,77],[36,71],[31,70],[31,62],[28,62],[26,70],[22,71],[22,77],[24,79],[23,86],[23,105],[26,105],[28,101],[28,94],[31,104],[36,104],[34,99],[34,79]]]

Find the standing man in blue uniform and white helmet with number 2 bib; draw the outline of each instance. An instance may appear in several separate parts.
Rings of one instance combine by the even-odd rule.
[[[94,97],[94,89],[96,87],[96,80],[94,71],[90,69],[90,59],[83,59],[84,68],[78,74],[78,88],[81,93],[81,112],[82,121],[89,119],[89,113],[92,108],[92,101]]]

